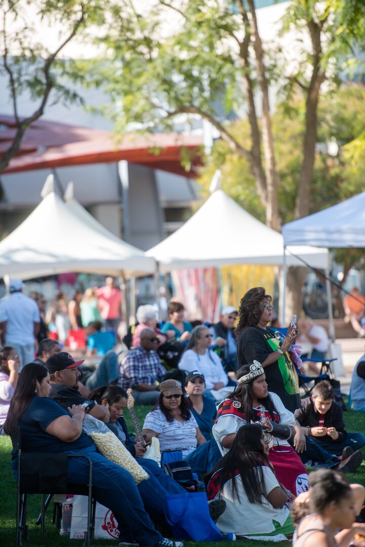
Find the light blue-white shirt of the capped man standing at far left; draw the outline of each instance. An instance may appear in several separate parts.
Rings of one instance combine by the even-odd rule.
[[[36,301],[21,292],[10,294],[0,304],[0,323],[6,321],[6,344],[34,344],[34,323],[39,323]]]

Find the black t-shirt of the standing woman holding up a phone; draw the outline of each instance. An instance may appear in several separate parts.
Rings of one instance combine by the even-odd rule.
[[[239,366],[250,365],[254,360],[263,363],[270,353],[273,353],[272,347],[268,340],[275,338],[274,332],[270,329],[263,330],[260,327],[245,327],[240,331],[237,341],[237,356]],[[284,354],[285,364],[291,375],[296,373],[293,370],[293,364],[290,359]],[[289,394],[284,387],[284,380],[279,368],[278,361],[275,361],[265,367],[266,381],[269,391],[279,395],[285,408],[294,412],[301,408],[301,398],[298,393]]]

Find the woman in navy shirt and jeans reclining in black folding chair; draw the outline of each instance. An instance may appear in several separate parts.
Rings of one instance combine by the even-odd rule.
[[[181,542],[163,538],[155,530],[132,475],[98,453],[92,438],[83,432],[85,408],[73,405],[66,411],[48,398],[49,381],[45,366],[30,363],[23,368],[4,423],[5,432],[13,435],[20,427],[22,450],[25,452],[67,452],[89,456],[93,466],[94,496],[113,511],[120,541],[145,546],[182,547]],[[86,485],[88,479],[89,467],[83,458],[69,458],[68,480]]]

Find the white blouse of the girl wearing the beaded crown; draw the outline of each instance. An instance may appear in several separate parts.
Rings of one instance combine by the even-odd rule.
[[[290,410],[287,410],[282,404],[279,395],[271,391],[268,392],[270,399],[273,401],[276,411],[280,416],[280,423],[285,423],[287,426],[295,426],[295,417]],[[221,443],[222,439],[230,435],[231,433],[237,433],[238,429],[245,425],[246,420],[239,418],[238,416],[220,416],[217,418],[216,423],[213,426],[214,438]],[[251,422],[254,423],[254,422]],[[274,437],[274,444],[276,446],[290,446],[287,440],[278,439]],[[228,449],[223,449],[228,452]]]

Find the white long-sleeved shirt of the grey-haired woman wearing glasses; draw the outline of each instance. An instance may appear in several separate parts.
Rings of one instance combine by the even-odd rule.
[[[206,350],[203,355],[194,350],[185,351],[178,367],[180,370],[186,370],[189,373],[193,370],[200,370],[204,374],[207,389],[212,389],[215,383],[222,382],[223,386],[228,383],[228,376],[225,369],[223,369],[220,358],[211,350]]]

